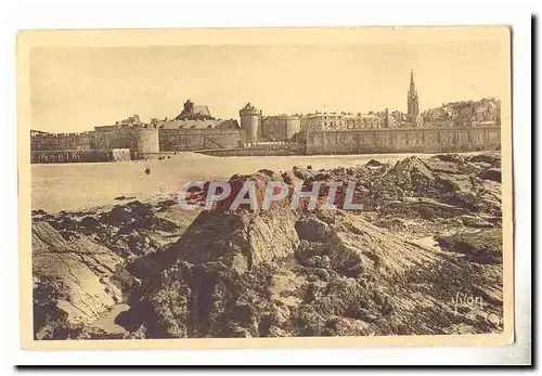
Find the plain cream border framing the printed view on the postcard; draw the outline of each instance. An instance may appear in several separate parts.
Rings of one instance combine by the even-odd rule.
[[[503,296],[504,332],[488,335],[220,338],[144,340],[40,340],[33,338],[33,280],[30,242],[30,150],[31,103],[29,56],[33,48],[144,47],[144,46],[270,46],[270,44],[372,44],[498,42],[500,57],[494,64],[501,88],[502,111],[502,205],[503,205]],[[308,67],[310,69],[310,67]],[[314,72],[318,77],[318,72]],[[137,79],[137,78],[134,78]],[[272,80],[273,77],[267,79]],[[27,30],[17,37],[18,115],[18,218],[21,339],[25,349],[158,349],[158,348],[292,348],[354,346],[490,346],[514,340],[513,306],[513,181],[511,113],[511,30],[504,26],[462,27],[363,27],[363,28],[258,28],[258,29],[150,29],[150,30]],[[438,90],[436,88],[435,90]],[[424,95],[434,95],[426,92]],[[54,194],[54,193],[52,193]]]

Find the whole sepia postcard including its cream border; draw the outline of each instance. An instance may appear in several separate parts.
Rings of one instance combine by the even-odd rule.
[[[512,342],[511,56],[505,26],[21,33],[24,347]]]

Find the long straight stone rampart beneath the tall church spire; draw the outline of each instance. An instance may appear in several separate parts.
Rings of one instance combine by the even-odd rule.
[[[417,128],[310,131],[306,154],[447,153],[494,150],[501,128]]]

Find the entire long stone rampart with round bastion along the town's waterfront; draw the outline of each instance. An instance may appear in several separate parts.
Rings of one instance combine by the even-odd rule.
[[[212,155],[447,153],[494,150],[500,127],[317,130],[301,144],[243,147],[246,131],[131,129],[30,138],[31,163],[83,163],[165,157],[164,153],[209,151]],[[115,152],[113,152],[115,151]],[[128,155],[129,154],[129,155]]]

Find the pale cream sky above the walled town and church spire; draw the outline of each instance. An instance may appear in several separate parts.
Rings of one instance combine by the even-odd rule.
[[[498,42],[61,47],[30,51],[31,128],[78,132],[133,114],[175,117],[186,99],[217,118],[247,102],[264,115],[406,112],[410,70],[422,111],[501,98]]]

